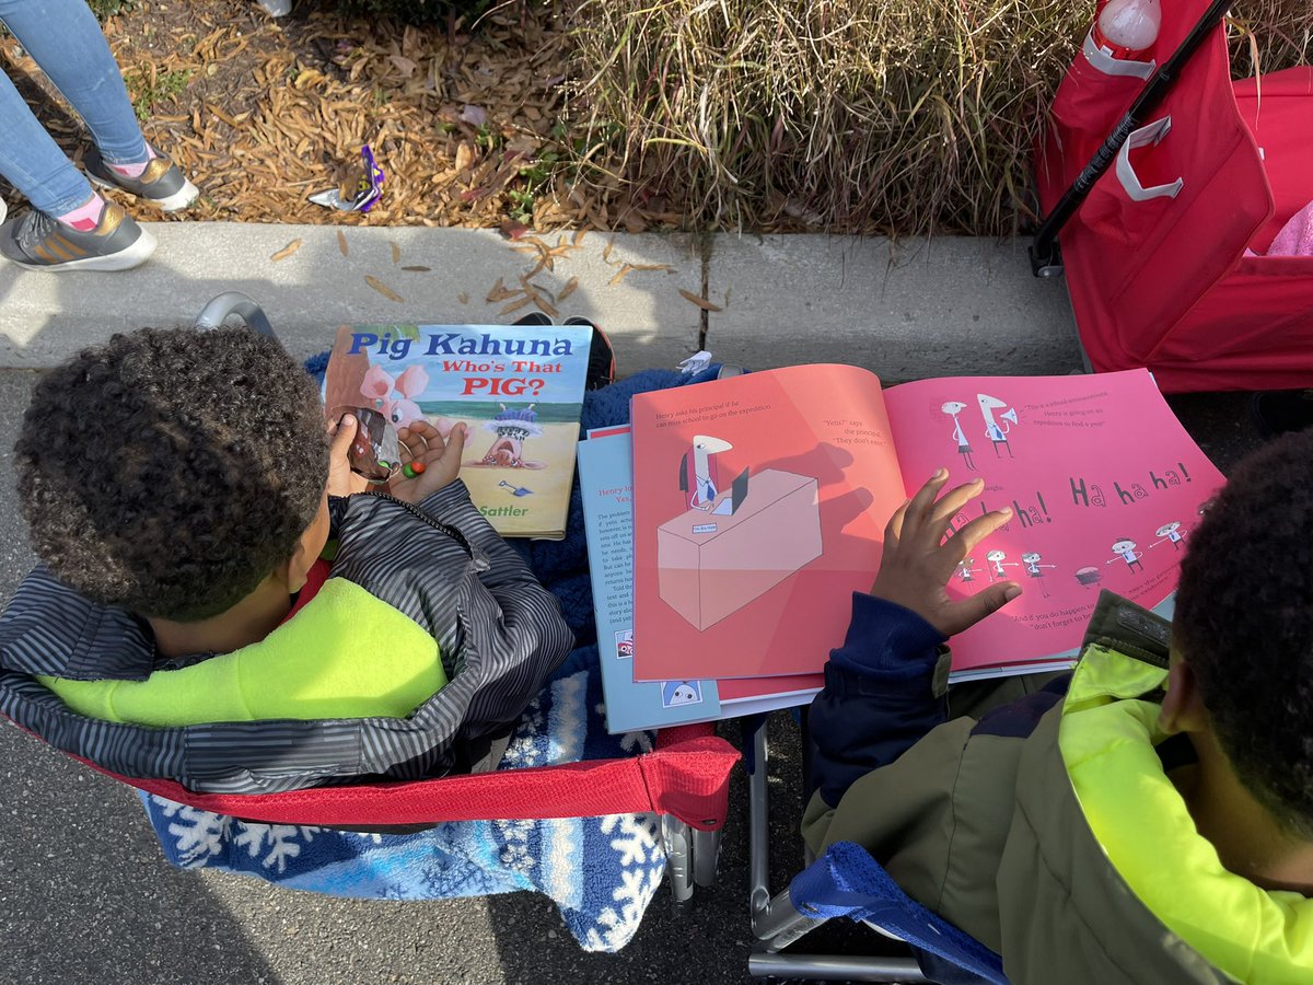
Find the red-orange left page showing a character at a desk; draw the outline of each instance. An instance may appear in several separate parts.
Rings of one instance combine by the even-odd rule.
[[[880,381],[789,366],[632,410],[634,680],[819,672],[903,498]]]

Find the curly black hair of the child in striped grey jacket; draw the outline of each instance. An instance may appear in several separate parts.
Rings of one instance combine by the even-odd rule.
[[[194,621],[291,557],[328,475],[315,385],[247,328],[144,328],[35,386],[14,447],[32,544],[93,602]]]

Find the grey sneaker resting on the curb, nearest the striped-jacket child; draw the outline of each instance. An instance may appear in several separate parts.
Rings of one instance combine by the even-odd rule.
[[[130,271],[155,252],[155,236],[113,202],[89,232],[35,209],[0,226],[0,253],[29,271]]]

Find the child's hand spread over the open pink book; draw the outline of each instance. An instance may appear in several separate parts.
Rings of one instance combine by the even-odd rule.
[[[952,636],[1015,599],[1022,586],[999,582],[966,599],[948,598],[944,586],[962,558],[1007,523],[1012,511],[978,516],[945,541],[949,520],[985,490],[985,481],[974,479],[939,496],[945,482],[948,470],[940,469],[890,517],[871,594],[911,609],[944,636]]]

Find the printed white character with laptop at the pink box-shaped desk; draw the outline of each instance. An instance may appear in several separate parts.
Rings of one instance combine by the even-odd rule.
[[[734,445],[695,435],[679,462],[676,516],[656,531],[660,598],[699,629],[720,623],[821,557],[817,481],[721,464]],[[735,474],[737,473],[737,474]],[[723,487],[722,487],[723,486]]]

